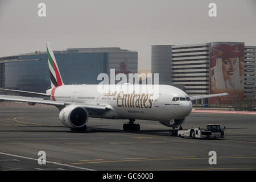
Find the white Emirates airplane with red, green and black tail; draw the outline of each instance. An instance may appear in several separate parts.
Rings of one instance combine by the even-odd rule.
[[[115,91],[106,90],[106,92],[99,92],[99,85],[64,85],[49,42],[47,42],[47,55],[51,89],[46,90],[46,93],[1,90],[48,96],[48,100],[9,95],[0,95],[0,100],[56,106],[60,110],[61,123],[72,131],[85,131],[88,118],[93,117],[129,119],[128,123],[123,124],[124,131],[140,130],[140,126],[134,124],[135,119],[159,121],[164,126],[172,127],[173,130],[170,133],[174,135],[175,128],[181,127],[185,118],[191,113],[191,101],[228,95],[228,93],[221,93],[189,97],[183,90],[170,85],[154,85],[158,87],[158,93],[143,92],[143,89],[134,90],[134,86],[142,88],[146,85],[126,84],[126,88],[133,92],[120,91],[120,85],[108,85]]]

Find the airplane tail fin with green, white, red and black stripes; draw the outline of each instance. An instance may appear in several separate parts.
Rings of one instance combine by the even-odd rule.
[[[47,48],[47,57],[48,57],[48,64],[49,64],[49,73],[51,76],[51,86],[55,88],[57,86],[64,85],[62,78],[60,76],[60,71],[55,59],[55,56],[52,51],[51,44],[49,42],[46,43]]]

